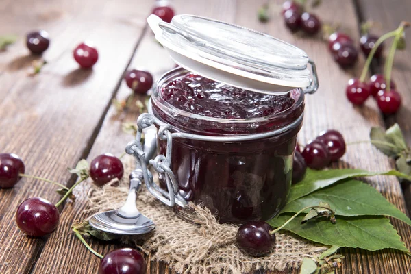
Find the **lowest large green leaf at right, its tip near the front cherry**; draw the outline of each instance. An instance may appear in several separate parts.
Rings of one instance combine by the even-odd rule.
[[[288,221],[290,216],[292,215],[282,214],[276,219],[271,219],[268,223],[273,227],[279,227]],[[347,218],[340,216],[335,224],[316,219],[301,225],[302,219],[303,216],[298,216],[283,229],[323,245],[361,248],[370,251],[391,248],[411,255],[401,242],[397,230],[386,217]]]

